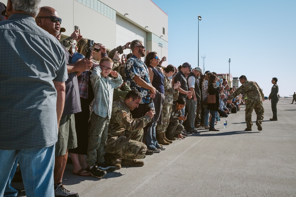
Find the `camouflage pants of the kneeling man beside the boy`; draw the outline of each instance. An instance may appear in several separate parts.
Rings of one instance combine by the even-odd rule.
[[[105,152],[109,157],[125,159],[142,159],[147,151],[147,146],[142,143],[143,129],[126,132],[125,135],[108,137]],[[106,157],[105,157],[106,158]]]

